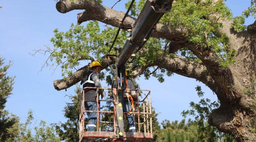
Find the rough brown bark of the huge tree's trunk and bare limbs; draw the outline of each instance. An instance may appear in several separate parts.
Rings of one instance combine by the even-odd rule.
[[[71,10],[84,9],[78,13],[78,23],[89,20],[97,20],[114,27],[119,26],[119,20],[124,16],[124,12],[119,12],[109,7],[98,4],[93,0],[61,0],[56,4],[57,10],[66,13]],[[128,16],[124,21],[126,25],[132,25],[136,19]],[[147,67],[158,66],[168,71],[172,71],[182,76],[195,78],[206,84],[213,92],[217,94],[220,100],[220,107],[209,117],[210,125],[218,130],[230,133],[239,142],[256,141],[256,136],[251,130],[251,120],[254,119],[254,112],[251,107],[253,103],[252,96],[244,93],[245,89],[252,88],[255,81],[256,71],[256,22],[248,26],[247,31],[235,33],[231,28],[231,21],[219,20],[223,28],[219,32],[225,33],[229,38],[230,49],[235,49],[235,65],[223,68],[218,62],[220,55],[210,50],[210,47],[201,48],[190,43],[184,33],[188,30],[182,26],[173,28],[166,24],[156,24],[156,29],[151,37],[165,38],[172,42],[169,53],[174,53],[181,47],[188,47],[194,55],[202,60],[202,64],[188,62],[181,56],[170,58],[160,56],[153,63],[146,63],[146,66],[136,66],[133,70],[133,77],[138,76]],[[172,48],[173,47],[173,48]],[[103,56],[102,68],[108,67],[106,56]],[[109,60],[114,64],[114,60]],[[57,90],[68,88],[78,83],[89,71],[89,65],[76,71],[71,77],[62,80],[55,80],[54,87]],[[209,75],[206,74],[209,71]],[[255,93],[255,90],[254,90]]]

